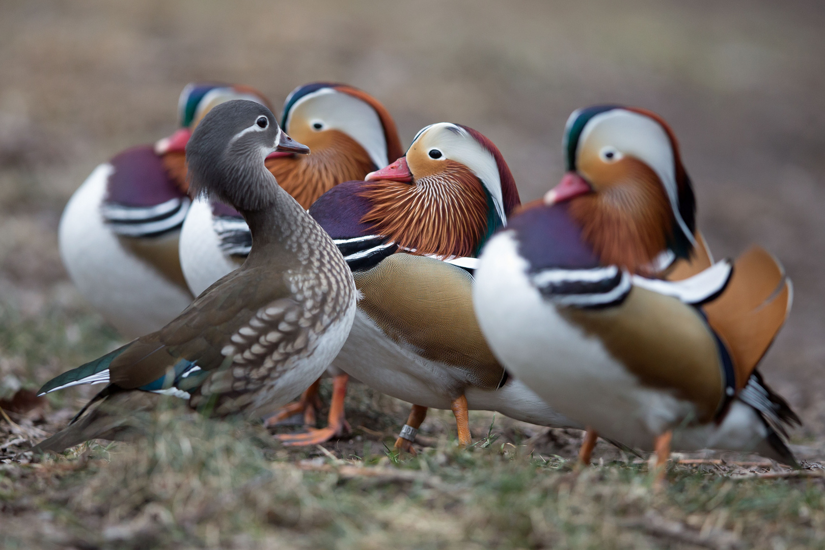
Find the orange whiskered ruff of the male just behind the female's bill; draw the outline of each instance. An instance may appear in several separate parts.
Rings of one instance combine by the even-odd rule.
[[[307,145],[311,153],[269,158],[266,167],[304,209],[337,184],[363,180],[375,170],[364,148],[338,130],[313,133],[303,139],[294,135],[293,139]]]

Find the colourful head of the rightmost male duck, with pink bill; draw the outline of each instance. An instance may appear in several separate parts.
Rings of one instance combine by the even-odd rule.
[[[655,271],[695,245],[695,198],[676,137],[659,115],[594,106],[564,130],[568,172],[544,204],[568,203],[601,263]]]

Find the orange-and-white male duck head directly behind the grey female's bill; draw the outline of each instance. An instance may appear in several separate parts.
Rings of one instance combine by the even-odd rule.
[[[286,98],[281,125],[312,154],[272,153],[266,167],[304,208],[342,181],[362,180],[402,154],[389,112],[375,97],[346,84],[295,88]]]

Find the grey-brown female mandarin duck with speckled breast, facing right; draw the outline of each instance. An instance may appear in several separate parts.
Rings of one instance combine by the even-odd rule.
[[[83,407],[40,449],[116,435],[122,426],[111,411],[145,408],[136,404],[140,394],[184,397],[217,415],[263,416],[328,367],[355,316],[355,284],[332,239],[266,170],[273,149],[309,153],[252,101],[215,106],[196,127],[186,145],[191,188],[243,215],[252,250],[160,331],[46,383],[41,393],[107,383],[89,403],[106,408]]]

